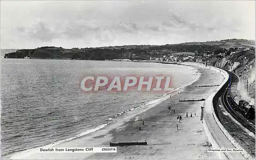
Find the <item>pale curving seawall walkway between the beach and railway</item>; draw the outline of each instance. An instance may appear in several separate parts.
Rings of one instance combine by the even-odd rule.
[[[243,149],[236,140],[232,138],[232,136],[228,133],[228,131],[224,128],[224,126],[219,121],[216,110],[214,107],[214,102],[218,101],[219,97],[223,93],[226,88],[226,84],[230,82],[229,75],[226,71],[217,68],[208,66],[209,69],[215,70],[223,75],[223,82],[220,84],[218,88],[216,88],[215,92],[212,93],[204,103],[204,128],[205,132],[208,136],[209,141],[211,142],[214,148],[237,148]],[[244,150],[244,149],[243,149]],[[244,150],[245,151],[245,150]],[[243,159],[243,158],[252,158],[248,152],[219,152],[218,156],[220,158],[228,158],[228,159]]]

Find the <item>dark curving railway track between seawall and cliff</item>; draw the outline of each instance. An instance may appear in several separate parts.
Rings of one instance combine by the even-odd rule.
[[[225,70],[226,71],[226,70]],[[234,119],[236,119],[239,123],[241,123],[245,128],[255,134],[255,121],[249,121],[248,119],[244,118],[241,113],[238,111],[238,106],[232,101],[232,99],[228,96],[230,92],[230,88],[232,83],[238,82],[239,78],[232,72],[226,71],[229,75],[228,81],[225,84],[226,88],[221,95],[222,103],[226,110],[232,115]]]

